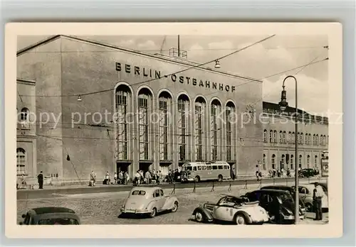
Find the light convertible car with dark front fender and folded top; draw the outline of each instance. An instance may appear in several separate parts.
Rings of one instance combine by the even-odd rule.
[[[198,222],[232,221],[235,224],[263,224],[269,220],[265,209],[258,202],[248,202],[246,198],[224,194],[219,202],[204,203],[194,209]]]

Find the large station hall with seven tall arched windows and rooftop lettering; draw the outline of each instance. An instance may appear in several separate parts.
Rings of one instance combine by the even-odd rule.
[[[20,50],[17,66],[33,88],[19,88],[31,102],[18,112],[37,116],[31,147],[18,133],[18,148],[33,157],[20,173],[88,180],[92,170],[167,173],[226,160],[238,175],[253,175],[263,158],[263,126],[242,116],[262,114],[256,79],[63,35]]]

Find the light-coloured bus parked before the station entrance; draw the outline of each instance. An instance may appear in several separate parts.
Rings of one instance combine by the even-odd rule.
[[[216,161],[214,163],[192,162],[182,165],[182,182],[204,180],[229,180],[231,170],[229,163]]]

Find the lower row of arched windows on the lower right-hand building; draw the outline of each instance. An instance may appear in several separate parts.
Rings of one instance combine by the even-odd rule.
[[[290,168],[291,170],[293,170],[293,164],[294,164],[294,155],[290,155],[290,157],[288,159],[286,159],[287,156],[286,155],[281,155],[281,160],[280,160],[280,164],[276,164],[276,155],[272,154],[271,155],[271,168],[272,169],[286,169],[286,168]],[[311,160],[310,160],[310,155],[307,155],[307,168],[311,167]],[[314,167],[318,167],[319,164],[319,160],[318,160],[318,155],[314,156],[314,163],[313,166]],[[289,167],[288,167],[289,165]],[[303,165],[303,155],[299,155],[298,158],[298,167],[302,168]],[[263,154],[263,170],[266,170],[266,154]]]

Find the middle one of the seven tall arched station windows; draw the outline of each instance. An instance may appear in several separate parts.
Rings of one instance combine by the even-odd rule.
[[[179,160],[187,160],[189,98],[181,94],[178,98],[178,146]]]

